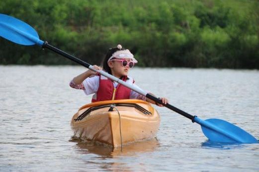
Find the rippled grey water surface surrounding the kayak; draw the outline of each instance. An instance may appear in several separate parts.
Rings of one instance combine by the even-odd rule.
[[[91,100],[69,87],[80,66],[0,66],[0,171],[259,171],[259,144],[207,143],[199,124],[158,108],[157,139],[123,151],[72,139]],[[191,115],[221,118],[259,138],[259,71],[134,68],[141,88]]]

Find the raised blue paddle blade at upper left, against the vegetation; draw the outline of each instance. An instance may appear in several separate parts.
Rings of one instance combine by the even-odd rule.
[[[42,46],[38,33],[27,23],[14,17],[0,14],[0,36],[16,44]]]

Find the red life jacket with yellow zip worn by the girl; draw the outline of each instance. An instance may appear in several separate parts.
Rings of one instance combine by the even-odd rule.
[[[123,76],[121,80],[127,83],[134,83],[132,78]],[[113,81],[105,76],[100,75],[99,88],[97,92],[92,96],[92,103],[107,100],[121,100],[129,99],[131,90],[121,84],[118,84],[116,88],[113,86]]]

